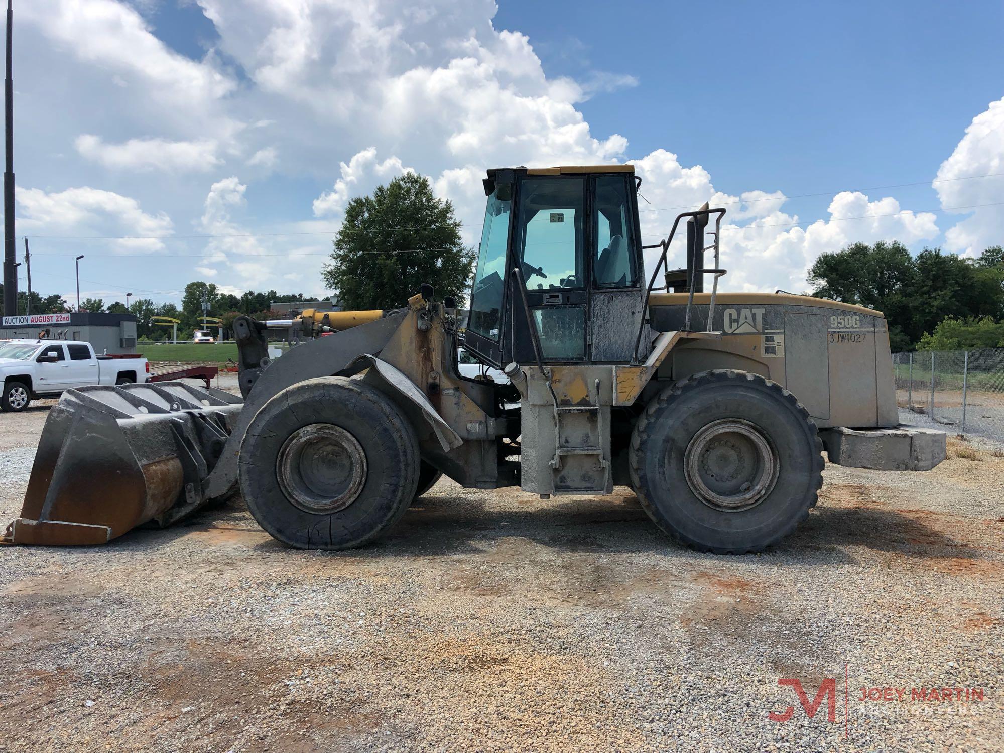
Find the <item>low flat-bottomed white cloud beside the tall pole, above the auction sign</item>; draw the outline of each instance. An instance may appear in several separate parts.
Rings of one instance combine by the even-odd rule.
[[[174,232],[174,223],[163,212],[148,214],[136,199],[87,186],[46,193],[18,188],[21,207],[18,230],[27,235],[126,236],[112,250],[155,252],[164,249],[159,237]]]

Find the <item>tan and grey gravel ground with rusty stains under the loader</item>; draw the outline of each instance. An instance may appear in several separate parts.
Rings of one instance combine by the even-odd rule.
[[[0,417],[5,520],[44,416]],[[351,552],[284,548],[239,501],[105,547],[0,548],[0,749],[1001,750],[1004,458],[951,455],[828,466],[755,556],[673,544],[625,489],[449,481]],[[809,701],[835,680],[834,721],[782,678]],[[887,687],[904,699],[859,700]],[[933,687],[985,696],[911,700]]]

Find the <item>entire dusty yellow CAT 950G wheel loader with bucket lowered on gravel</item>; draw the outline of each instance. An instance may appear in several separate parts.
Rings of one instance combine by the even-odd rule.
[[[488,171],[468,311],[423,285],[395,310],[241,316],[241,398],[68,391],[5,540],[103,543],[239,493],[280,541],[341,549],[445,474],[540,499],[630,487],[673,538],[741,554],[808,516],[824,452],[900,471],[944,459],[944,433],[898,426],[881,312],[720,292],[726,210],[685,212],[646,246],[640,185],[631,165]],[[670,269],[681,223],[686,266]],[[305,341],[270,360],[269,329],[289,326]],[[461,375],[458,348],[505,379]]]

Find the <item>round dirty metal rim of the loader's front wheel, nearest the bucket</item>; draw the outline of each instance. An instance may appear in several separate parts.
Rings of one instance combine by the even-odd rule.
[[[310,424],[293,432],[276,460],[279,487],[306,512],[344,510],[366,479],[366,456],[355,438],[333,424]]]

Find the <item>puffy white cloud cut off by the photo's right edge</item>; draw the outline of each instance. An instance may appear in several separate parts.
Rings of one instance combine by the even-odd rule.
[[[938,170],[934,188],[945,208],[997,204],[1004,201],[1001,173],[1004,173],[1004,98],[991,102],[973,118],[962,141]],[[969,217],[945,232],[945,245],[950,251],[978,256],[987,246],[1001,243],[1004,207],[965,211]]]

